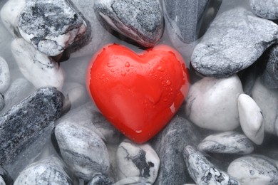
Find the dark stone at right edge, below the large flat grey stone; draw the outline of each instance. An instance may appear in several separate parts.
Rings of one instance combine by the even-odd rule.
[[[277,1],[278,4],[278,1]],[[278,6],[277,6],[278,7]],[[277,13],[278,14],[278,13]],[[262,74],[262,82],[267,88],[278,88],[278,45],[269,51],[267,68]]]

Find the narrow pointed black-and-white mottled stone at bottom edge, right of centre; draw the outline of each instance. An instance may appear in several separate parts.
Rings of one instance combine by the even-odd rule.
[[[205,156],[190,145],[185,147],[183,157],[185,158],[190,176],[198,185],[240,184],[240,182],[228,175],[225,171],[217,169]]]

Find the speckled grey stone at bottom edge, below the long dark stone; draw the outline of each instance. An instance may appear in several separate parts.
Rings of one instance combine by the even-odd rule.
[[[72,184],[65,166],[57,157],[48,157],[34,162],[21,171],[21,174],[14,181],[14,185],[34,184]]]

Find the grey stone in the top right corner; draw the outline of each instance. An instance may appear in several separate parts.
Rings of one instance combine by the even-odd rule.
[[[257,16],[271,20],[278,19],[277,0],[249,0],[249,4]]]

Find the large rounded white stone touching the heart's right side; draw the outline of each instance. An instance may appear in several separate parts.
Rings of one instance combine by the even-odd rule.
[[[185,113],[195,125],[219,131],[240,125],[237,97],[243,93],[237,75],[229,78],[205,77],[193,84],[187,95]]]

